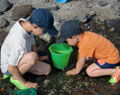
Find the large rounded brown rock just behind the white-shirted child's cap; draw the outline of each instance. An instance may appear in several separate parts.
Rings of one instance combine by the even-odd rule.
[[[19,18],[25,18],[32,12],[32,5],[17,6],[12,11],[12,19],[18,20]]]

